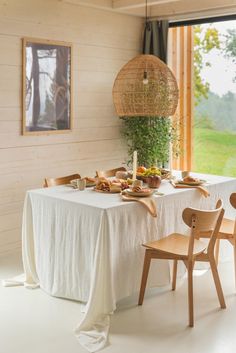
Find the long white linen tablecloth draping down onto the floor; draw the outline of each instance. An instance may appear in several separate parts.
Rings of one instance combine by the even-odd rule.
[[[105,346],[116,302],[139,291],[141,244],[173,231],[186,233],[181,222],[185,207],[207,209],[219,198],[228,205],[236,179],[200,177],[208,182],[209,198],[163,181],[159,191],[164,196],[153,196],[157,218],[136,202],[123,202],[119,194],[91,188],[57,186],[27,192],[22,226],[26,284],[87,303],[75,334],[89,351]],[[166,285],[169,280],[168,262],[153,261],[148,286]]]

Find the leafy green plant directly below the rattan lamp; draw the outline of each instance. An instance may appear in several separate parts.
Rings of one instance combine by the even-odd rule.
[[[138,152],[138,164],[145,167],[164,167],[169,162],[170,142],[176,141],[177,133],[169,118],[123,117],[121,134],[128,146],[128,161]]]

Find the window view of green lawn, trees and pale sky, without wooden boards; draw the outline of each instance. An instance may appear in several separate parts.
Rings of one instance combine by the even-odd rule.
[[[193,169],[236,176],[236,20],[193,27]]]

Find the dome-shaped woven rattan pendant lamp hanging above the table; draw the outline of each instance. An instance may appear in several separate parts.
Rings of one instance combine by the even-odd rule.
[[[120,70],[112,93],[120,117],[169,117],[175,113],[179,97],[176,79],[168,66],[146,54],[136,56]]]

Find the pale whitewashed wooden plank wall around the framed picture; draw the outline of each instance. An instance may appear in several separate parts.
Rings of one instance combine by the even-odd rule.
[[[21,38],[74,47],[74,129],[21,135]],[[112,104],[119,69],[141,50],[142,20],[59,0],[0,0],[0,254],[20,247],[22,206],[45,176],[121,165],[126,151]]]

